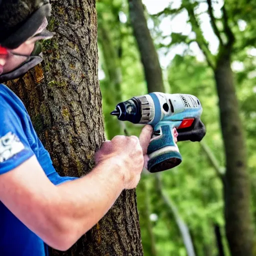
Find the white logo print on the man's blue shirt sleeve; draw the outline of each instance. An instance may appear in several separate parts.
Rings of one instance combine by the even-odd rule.
[[[0,137],[0,162],[8,160],[24,149],[24,145],[11,131]]]

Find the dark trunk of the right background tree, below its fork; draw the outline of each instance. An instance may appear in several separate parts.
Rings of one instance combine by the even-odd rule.
[[[220,53],[214,70],[219,97],[220,122],[226,156],[224,176],[225,228],[233,256],[252,255],[250,184],[246,170],[246,147],[239,117],[230,54]]]

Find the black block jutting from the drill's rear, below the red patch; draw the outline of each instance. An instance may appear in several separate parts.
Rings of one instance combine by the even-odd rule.
[[[177,129],[177,132],[178,141],[201,141],[206,133],[206,129],[200,118],[195,118],[190,127]]]

